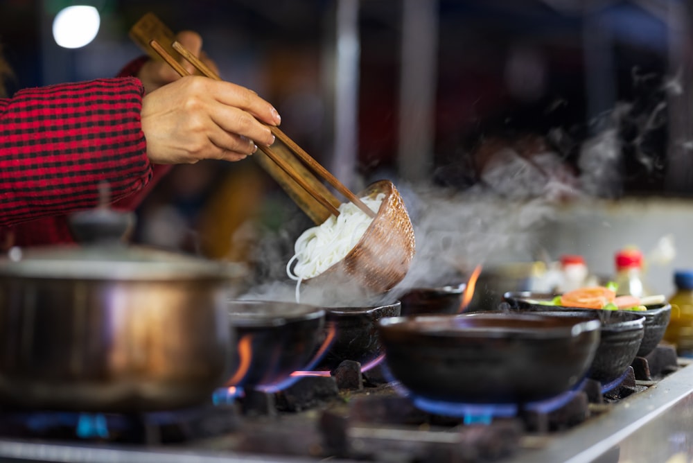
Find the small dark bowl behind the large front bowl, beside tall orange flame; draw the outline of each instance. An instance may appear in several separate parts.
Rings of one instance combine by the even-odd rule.
[[[466,283],[437,288],[412,288],[399,298],[402,316],[457,314]]]

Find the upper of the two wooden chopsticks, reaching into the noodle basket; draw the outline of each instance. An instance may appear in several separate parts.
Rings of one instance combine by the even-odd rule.
[[[180,42],[176,40],[175,42],[173,42],[173,44],[171,44],[171,46],[173,46],[173,49],[175,49],[175,51],[180,53],[183,58],[185,58],[190,64],[192,64],[195,67],[195,69],[200,71],[200,73],[202,73],[203,76],[207,76],[215,80],[221,80],[221,78],[214,71],[209,69],[207,64],[204,64],[204,62],[202,62],[202,60],[200,60],[197,56],[193,55],[193,53],[190,53],[190,51],[188,51],[184,46],[182,46]],[[302,161],[304,161],[304,163],[309,168],[311,168],[313,172],[317,173],[317,175],[320,175],[325,180],[327,180],[329,184],[334,186],[335,189],[337,189],[337,191],[342,193],[342,195],[344,195],[344,197],[346,197],[349,201],[353,202],[353,204],[356,204],[356,206],[359,209],[367,213],[369,217],[374,218],[376,216],[376,213],[370,207],[368,207],[362,200],[360,200],[360,198],[358,198],[357,195],[352,193],[351,190],[347,188],[347,186],[345,186],[344,184],[342,184],[342,182],[337,180],[337,177],[332,175],[330,171],[328,171],[326,168],[320,165],[315,159],[313,159],[313,157],[308,155],[308,153],[304,151],[303,148],[298,146],[298,144],[295,143],[295,141],[287,137],[286,134],[282,132],[278,127],[274,125],[267,125],[267,127],[269,127],[270,130],[272,130],[272,134],[274,134],[274,137],[277,137],[286,146],[288,146],[288,148],[292,150],[295,153],[295,155],[297,155]]]

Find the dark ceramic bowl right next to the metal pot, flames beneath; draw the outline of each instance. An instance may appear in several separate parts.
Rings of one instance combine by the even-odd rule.
[[[237,342],[228,386],[272,387],[310,364],[325,325],[322,308],[270,301],[228,308]]]

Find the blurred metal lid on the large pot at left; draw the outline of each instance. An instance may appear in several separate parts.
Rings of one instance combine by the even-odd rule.
[[[13,247],[0,258],[1,277],[105,280],[237,279],[245,265],[143,246]]]

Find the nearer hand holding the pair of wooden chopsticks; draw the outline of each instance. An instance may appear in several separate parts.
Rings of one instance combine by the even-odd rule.
[[[200,159],[238,161],[270,146],[263,121],[279,125],[277,110],[254,91],[202,76],[186,76],[146,94],[142,130],[155,164],[194,164]]]

